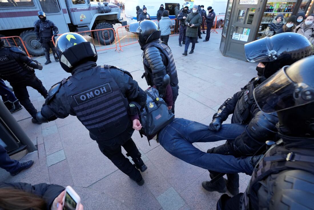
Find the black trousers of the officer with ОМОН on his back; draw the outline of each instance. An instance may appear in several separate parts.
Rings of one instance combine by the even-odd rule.
[[[120,169],[124,174],[127,174],[131,179],[138,180],[139,177],[142,177],[139,170],[135,168],[135,166],[122,154],[121,151],[121,146],[123,146],[125,151],[127,151],[128,156],[132,159],[139,157],[140,153],[138,148],[131,138],[133,131],[133,129],[125,131],[119,136],[114,137],[114,139],[103,141],[97,139],[96,141],[100,151],[107,158],[109,158],[109,160],[111,160],[111,162],[115,164],[118,169]],[[112,145],[107,145],[108,142],[112,142]]]

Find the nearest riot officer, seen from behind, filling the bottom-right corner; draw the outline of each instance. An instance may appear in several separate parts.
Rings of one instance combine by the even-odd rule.
[[[280,138],[265,153],[246,191],[224,194],[217,209],[313,209],[314,56],[285,66],[254,90],[264,113],[277,112]]]

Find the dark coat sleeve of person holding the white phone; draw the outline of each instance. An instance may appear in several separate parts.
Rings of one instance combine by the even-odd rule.
[[[35,194],[41,198],[43,198],[47,202],[46,209],[50,210],[51,205],[55,198],[60,195],[62,191],[64,191],[64,187],[60,185],[48,185],[46,183],[41,183],[38,185],[31,185],[23,182],[16,183],[0,183],[0,188],[14,188],[16,190],[21,190],[25,192],[29,192],[31,194]]]

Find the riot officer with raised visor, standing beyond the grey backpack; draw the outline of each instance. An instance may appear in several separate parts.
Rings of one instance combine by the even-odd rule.
[[[176,64],[172,56],[170,47],[160,41],[160,30],[151,20],[143,20],[130,24],[130,32],[138,34],[138,43],[143,50],[143,64],[147,85],[156,86],[160,97],[165,96],[163,79],[166,74],[170,76],[170,86],[172,89],[173,105],[172,112],[175,111],[175,101],[179,95],[178,76]]]

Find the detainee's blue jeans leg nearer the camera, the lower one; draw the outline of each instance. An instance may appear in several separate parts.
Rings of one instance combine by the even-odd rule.
[[[239,159],[230,155],[203,152],[186,141],[181,133],[169,125],[160,132],[158,140],[171,155],[203,169],[220,173],[252,174],[253,167],[250,158]]]

